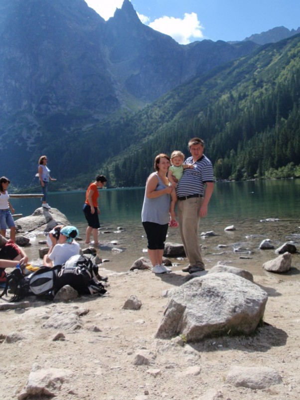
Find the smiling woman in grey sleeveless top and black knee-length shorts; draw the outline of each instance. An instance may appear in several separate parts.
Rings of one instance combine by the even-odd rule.
[[[142,222],[148,239],[148,255],[152,264],[152,272],[162,274],[170,272],[162,264],[164,242],[168,230],[171,193],[175,189],[169,186],[166,174],[170,166],[170,158],[166,154],[158,154],[154,160],[154,170],[146,182],[145,197],[142,209]]]

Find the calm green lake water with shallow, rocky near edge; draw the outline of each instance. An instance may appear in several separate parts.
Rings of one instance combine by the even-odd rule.
[[[110,262],[104,264],[109,270],[128,271],[136,259],[147,256],[147,239],[141,222],[144,193],[145,188],[100,190],[99,255],[110,259]],[[78,227],[83,238],[86,228],[82,212],[84,200],[85,191],[48,195],[51,207],[64,213],[70,223]],[[39,199],[11,199],[11,202],[15,212],[22,213],[23,216],[30,215],[40,206]],[[299,215],[300,180],[217,183],[209,204],[208,216],[200,221],[199,228],[199,234],[211,230],[216,233],[216,236],[201,236],[200,239],[207,268],[222,261],[255,274],[268,274],[263,271],[262,265],[277,255],[274,250],[260,250],[261,241],[270,239],[275,249],[286,241],[292,241],[299,249]],[[279,220],[266,221],[269,218]],[[229,225],[235,225],[236,230],[224,231]],[[117,227],[124,230],[117,232]],[[32,238],[31,248],[26,249],[35,264],[40,263],[37,257],[40,245],[37,241],[41,238]],[[117,243],[112,245],[112,241]],[[181,243],[179,230],[169,228],[167,241]],[[227,247],[220,248],[219,244]],[[123,251],[113,252],[112,247]],[[237,247],[244,250],[234,251]],[[173,267],[174,270],[181,269],[187,262],[186,259],[172,261],[180,264]],[[288,276],[295,278],[300,269],[299,254],[293,255],[292,265],[293,269]]]

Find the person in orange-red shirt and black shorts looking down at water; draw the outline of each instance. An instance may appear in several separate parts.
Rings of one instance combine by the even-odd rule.
[[[83,205],[83,212],[88,222],[88,227],[86,229],[85,242],[90,243],[91,234],[93,235],[94,245],[97,246],[98,243],[98,228],[100,228],[99,215],[100,209],[98,206],[98,189],[105,186],[107,179],[103,175],[98,175],[95,182],[92,182],[87,191],[86,199]]]

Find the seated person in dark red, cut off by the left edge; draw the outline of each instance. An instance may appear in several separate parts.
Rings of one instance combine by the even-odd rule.
[[[0,234],[0,280],[5,280],[5,268],[15,268],[17,264],[26,265],[27,262],[25,251]]]

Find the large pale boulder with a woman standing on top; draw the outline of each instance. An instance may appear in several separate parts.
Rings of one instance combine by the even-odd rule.
[[[70,222],[57,208],[39,207],[31,215],[19,218],[15,224],[18,232],[49,232],[56,225],[70,225]]]

